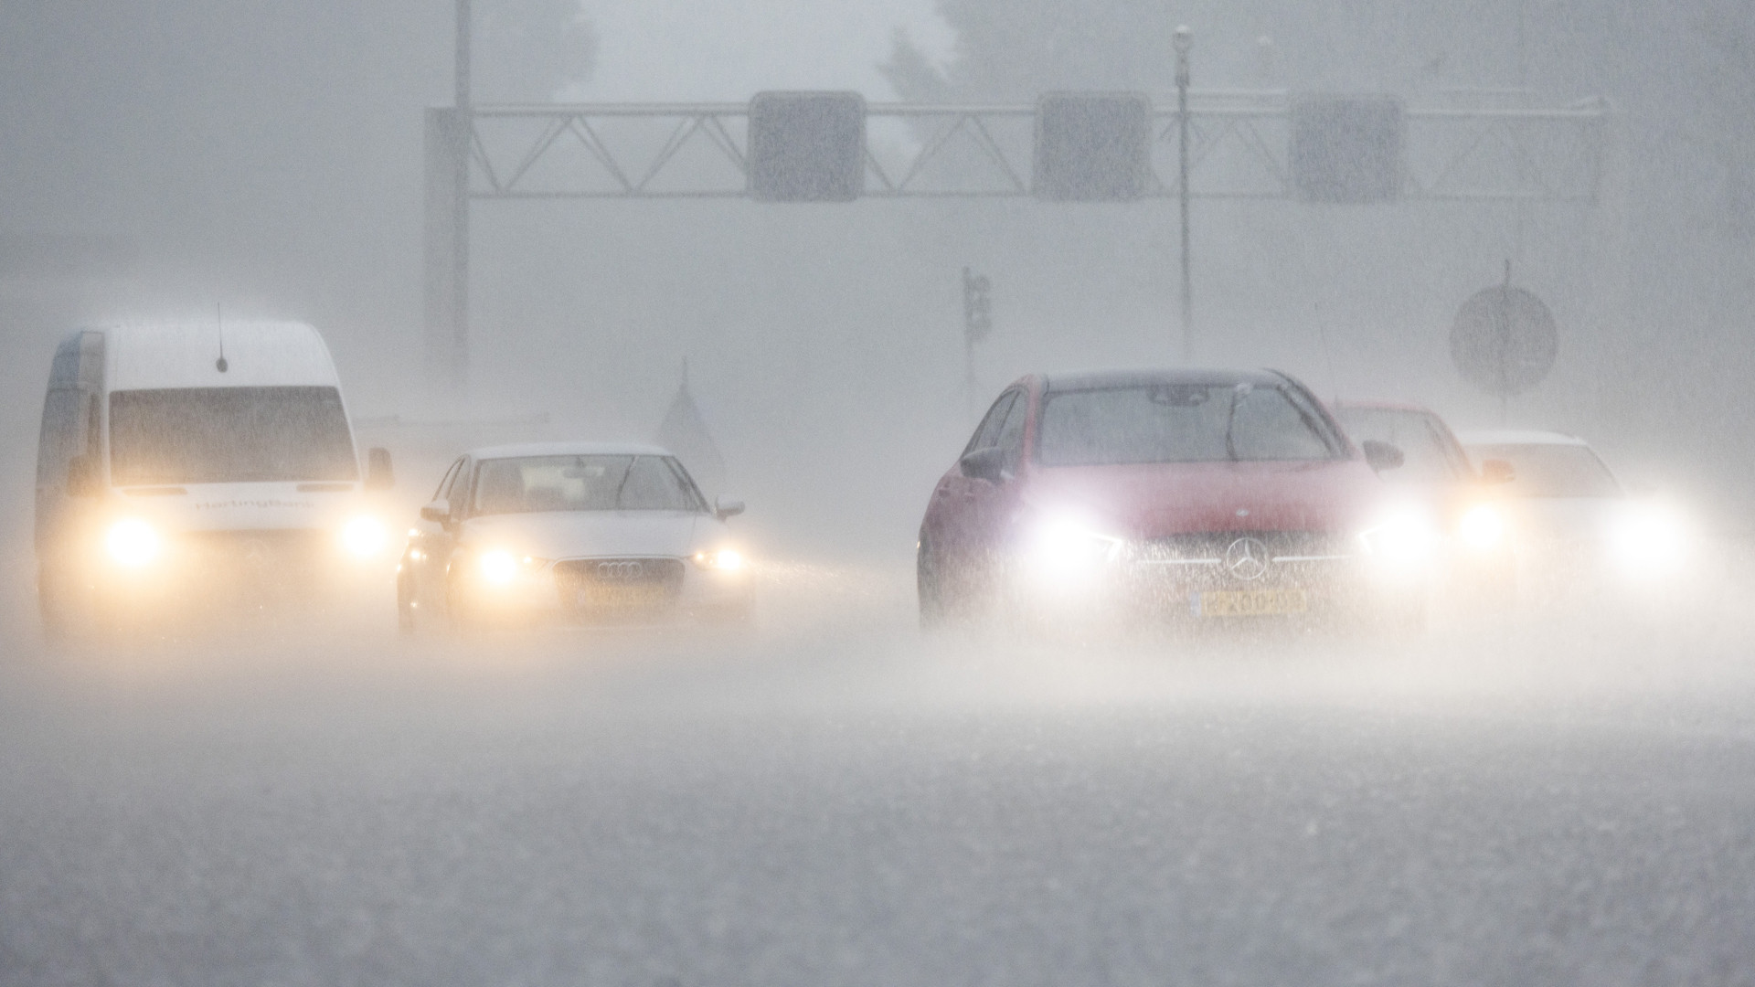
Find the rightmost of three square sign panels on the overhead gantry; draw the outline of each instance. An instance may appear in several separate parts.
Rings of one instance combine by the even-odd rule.
[[[1292,183],[1306,202],[1390,202],[1402,190],[1402,104],[1302,97],[1292,104]]]

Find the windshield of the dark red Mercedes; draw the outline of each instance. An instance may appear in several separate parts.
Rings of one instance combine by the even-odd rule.
[[[1341,455],[1314,411],[1278,386],[1139,385],[1049,392],[1042,465],[1322,460]]]

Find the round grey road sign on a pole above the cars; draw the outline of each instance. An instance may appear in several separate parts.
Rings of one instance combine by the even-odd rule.
[[[1509,285],[1476,292],[1450,327],[1450,360],[1457,372],[1499,397],[1539,385],[1558,351],[1560,337],[1548,306]]]

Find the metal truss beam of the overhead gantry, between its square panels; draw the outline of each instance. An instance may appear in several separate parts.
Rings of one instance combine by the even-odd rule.
[[[1290,100],[1274,91],[1195,91],[1193,198],[1297,198],[1288,162]],[[469,197],[742,198],[748,104],[476,105]],[[1611,111],[1409,109],[1402,200],[1594,202]],[[1030,195],[1035,111],[1028,105],[870,104],[865,198]],[[1174,109],[1158,135],[1148,198],[1174,198]]]

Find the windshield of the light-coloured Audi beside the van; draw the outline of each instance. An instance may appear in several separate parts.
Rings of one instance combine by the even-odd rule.
[[[683,464],[641,455],[484,460],[472,506],[476,515],[706,509]]]

